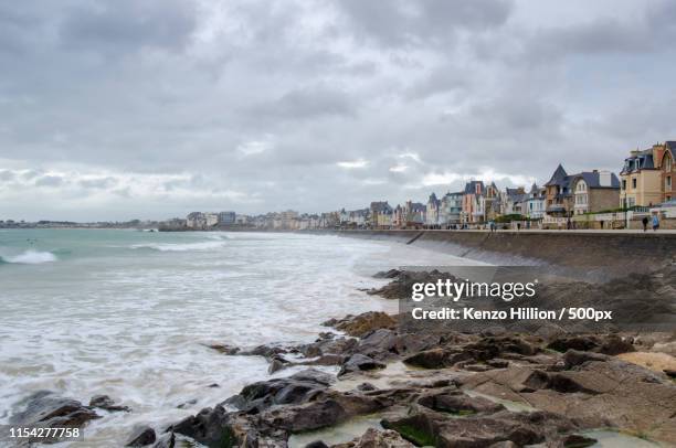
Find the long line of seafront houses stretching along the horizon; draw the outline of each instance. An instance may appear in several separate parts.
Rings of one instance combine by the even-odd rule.
[[[192,212],[167,221],[74,223],[0,221],[0,228],[151,228],[165,232],[210,230],[304,231],[336,228],[676,228],[676,141],[631,151],[620,175],[591,169],[569,174],[559,164],[543,185],[500,190],[471,180],[462,191],[432,192],[426,202],[391,205],[373,201],[358,210],[318,214],[293,210],[260,215],[234,211]],[[655,221],[656,220],[656,221]]]

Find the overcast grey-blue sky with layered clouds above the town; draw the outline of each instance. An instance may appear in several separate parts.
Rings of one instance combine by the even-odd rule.
[[[676,139],[668,0],[0,3],[0,220],[325,212]]]

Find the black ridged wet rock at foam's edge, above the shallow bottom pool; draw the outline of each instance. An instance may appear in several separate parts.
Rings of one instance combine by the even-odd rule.
[[[306,403],[323,394],[332,381],[332,375],[308,369],[289,377],[250,384],[224,404],[246,412],[261,412],[273,405]]]

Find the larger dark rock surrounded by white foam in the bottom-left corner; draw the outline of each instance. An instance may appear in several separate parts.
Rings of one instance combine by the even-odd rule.
[[[96,418],[101,416],[82,403],[56,396],[49,391],[41,391],[28,398],[23,412],[10,417],[10,424],[80,428]]]

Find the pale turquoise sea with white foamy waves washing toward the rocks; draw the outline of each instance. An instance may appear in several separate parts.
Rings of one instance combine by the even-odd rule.
[[[134,409],[77,447],[120,446],[136,424],[161,429],[268,376],[205,343],[308,342],[329,318],[394,310],[357,290],[373,273],[464,263],[336,236],[103,230],[0,231],[0,424],[40,390]]]

